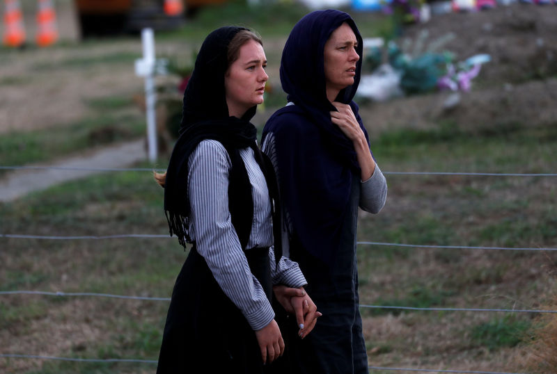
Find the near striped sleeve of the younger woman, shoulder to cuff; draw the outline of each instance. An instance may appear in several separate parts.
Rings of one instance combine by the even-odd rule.
[[[228,210],[230,158],[221,143],[201,142],[189,157],[191,237],[219,286],[242,311],[253,330],[274,318],[262,286],[251,274]]]

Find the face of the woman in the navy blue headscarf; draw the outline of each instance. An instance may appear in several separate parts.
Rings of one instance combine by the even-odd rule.
[[[324,47],[324,70],[327,90],[343,90],[354,84],[358,40],[352,28],[344,23],[338,27]]]

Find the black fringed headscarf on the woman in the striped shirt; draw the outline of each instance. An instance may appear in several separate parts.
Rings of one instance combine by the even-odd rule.
[[[217,140],[230,156],[228,200],[232,223],[245,249],[253,222],[251,184],[239,149],[251,147],[260,165],[269,190],[274,175],[269,175],[265,160],[256,144],[257,130],[249,122],[256,113],[250,108],[242,118],[228,115],[224,76],[228,70],[228,44],[243,27],[225,26],[207,35],[196,59],[184,92],[180,138],[176,142],[164,185],[164,211],[168,218],[170,234],[176,234],[180,244],[191,243],[189,236],[190,204],[187,175],[188,158],[197,145],[205,139]],[[280,248],[275,250],[280,255]]]

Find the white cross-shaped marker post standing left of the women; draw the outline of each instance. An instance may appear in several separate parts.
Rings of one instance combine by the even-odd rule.
[[[147,143],[149,161],[157,161],[157,122],[155,119],[155,38],[152,29],[141,30],[143,59],[135,61],[135,73],[145,77],[145,104],[147,113]]]

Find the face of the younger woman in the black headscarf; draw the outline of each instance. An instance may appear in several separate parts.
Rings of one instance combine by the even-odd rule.
[[[265,73],[267,58],[261,44],[249,40],[240,47],[240,54],[224,76],[224,90],[228,113],[242,117],[254,105],[263,102],[265,82],[269,79]]]

